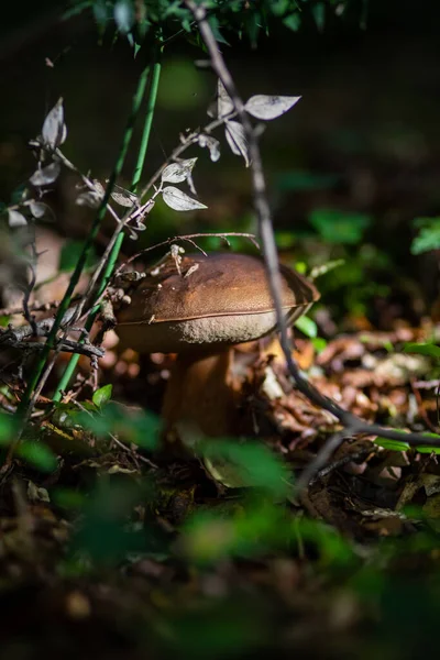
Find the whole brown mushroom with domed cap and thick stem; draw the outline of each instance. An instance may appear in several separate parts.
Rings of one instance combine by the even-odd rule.
[[[287,266],[280,266],[280,275],[283,309],[293,323],[319,293]],[[168,439],[184,440],[186,428],[207,436],[233,433],[231,346],[276,329],[263,261],[245,254],[190,254],[176,264],[169,255],[130,298],[117,314],[121,344],[139,353],[177,353],[163,404]]]

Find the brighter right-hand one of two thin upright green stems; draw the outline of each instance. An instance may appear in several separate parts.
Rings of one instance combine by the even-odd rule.
[[[133,193],[135,193],[135,190],[136,190],[138,184],[142,176],[144,163],[145,163],[145,156],[146,156],[146,150],[147,150],[148,141],[150,141],[154,109],[155,109],[156,99],[157,99],[158,81],[160,81],[160,77],[161,77],[162,51],[163,51],[163,45],[162,45],[161,41],[158,40],[155,43],[155,47],[153,50],[153,66],[151,67],[150,75],[148,75],[148,103],[147,103],[147,108],[146,108],[145,122],[144,122],[144,129],[142,132],[142,139],[141,139],[141,145],[139,148],[138,161],[136,161],[136,165],[134,168],[133,178],[132,178],[132,183],[131,183],[131,190]],[[110,277],[114,270],[114,265],[118,261],[118,256],[119,256],[119,252],[121,250],[123,239],[124,239],[124,234],[121,231],[121,233],[119,234],[119,237],[113,245],[113,250],[111,251],[111,253],[109,255],[109,260],[107,262],[107,266],[103,272],[102,280],[101,280],[100,286],[98,287],[95,299],[98,299],[102,295],[102,293],[105,292],[109,280],[110,280]],[[85,323],[85,329],[87,331],[91,330],[91,327],[95,322],[98,311],[99,311],[99,305],[96,305],[90,310],[87,321]],[[81,338],[79,341],[82,341],[82,339],[84,338]],[[79,360],[79,355],[77,353],[72,355],[69,363],[66,367],[66,371],[64,372],[64,374],[58,383],[58,386],[56,388],[56,392],[53,396],[53,400],[55,400],[55,402],[61,400],[62,395],[63,395],[62,393],[67,389],[70,378],[73,377],[73,375],[75,373],[75,369],[76,369],[76,365],[78,364],[78,360]]]

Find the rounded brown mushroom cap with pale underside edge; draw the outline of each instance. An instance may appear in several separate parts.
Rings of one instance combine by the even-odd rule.
[[[287,266],[280,266],[280,275],[283,309],[292,323],[319,293]],[[256,256],[188,254],[180,274],[169,256],[129,295],[116,330],[123,345],[140,353],[207,351],[258,339],[276,328],[264,262]]]

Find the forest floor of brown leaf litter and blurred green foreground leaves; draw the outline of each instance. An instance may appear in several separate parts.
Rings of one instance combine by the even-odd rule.
[[[338,334],[319,353],[298,339],[297,359],[364,419],[436,431],[436,364],[403,351],[435,332],[396,323]],[[117,356],[114,398],[158,402],[170,361]],[[116,443],[43,414],[56,469],[16,460],[1,476],[2,658],[428,652],[440,614],[436,453],[349,437],[290,497],[279,465],[290,485],[338,426],[292,388],[275,341],[240,346],[235,363],[258,444],[280,458],[262,487],[228,487],[200,459],[156,464],[122,429]]]

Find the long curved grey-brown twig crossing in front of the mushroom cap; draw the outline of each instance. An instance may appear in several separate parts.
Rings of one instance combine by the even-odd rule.
[[[280,345],[287,362],[288,372],[294,380],[296,387],[305,396],[307,396],[312,403],[317,404],[321,408],[324,408],[331,413],[344,427],[344,435],[346,433],[369,433],[381,436],[393,440],[400,440],[407,442],[410,446],[429,444],[439,447],[440,436],[428,436],[425,433],[406,433],[404,431],[397,431],[394,429],[386,429],[382,426],[369,424],[355,415],[341,408],[336,402],[323,396],[316,387],[314,387],[307,378],[305,378],[299,370],[298,364],[292,356],[292,345],[289,336],[287,332],[286,321],[282,312],[280,301],[280,286],[279,286],[279,264],[274,237],[274,230],[272,226],[271,208],[268,205],[266,194],[266,183],[263,170],[263,163],[260,154],[260,146],[257,141],[257,133],[253,129],[249,116],[245,111],[244,103],[240,97],[232,76],[226,66],[224,59],[220,53],[216,37],[213,36],[212,30],[207,20],[207,11],[204,4],[196,4],[194,0],[185,0],[185,4],[193,12],[196,19],[201,37],[208,50],[211,65],[220,80],[222,81],[226,90],[232,99],[237,114],[239,116],[241,123],[244,129],[245,136],[249,143],[249,156],[251,161],[251,177],[253,187],[253,202],[258,220],[258,233],[262,239],[262,249],[264,261],[266,265],[267,279],[274,300],[274,306],[277,317],[277,327],[279,331]]]

